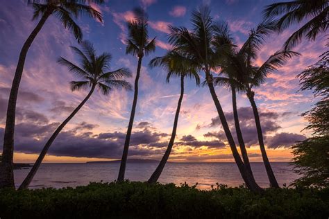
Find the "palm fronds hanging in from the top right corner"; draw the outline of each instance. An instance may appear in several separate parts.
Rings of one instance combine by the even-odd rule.
[[[285,49],[292,49],[303,37],[315,40],[320,33],[326,33],[329,21],[328,0],[296,0],[272,3],[263,11],[265,19],[276,19],[278,31],[281,32],[292,24],[307,20],[285,42]],[[281,16],[278,18],[279,16]]]

